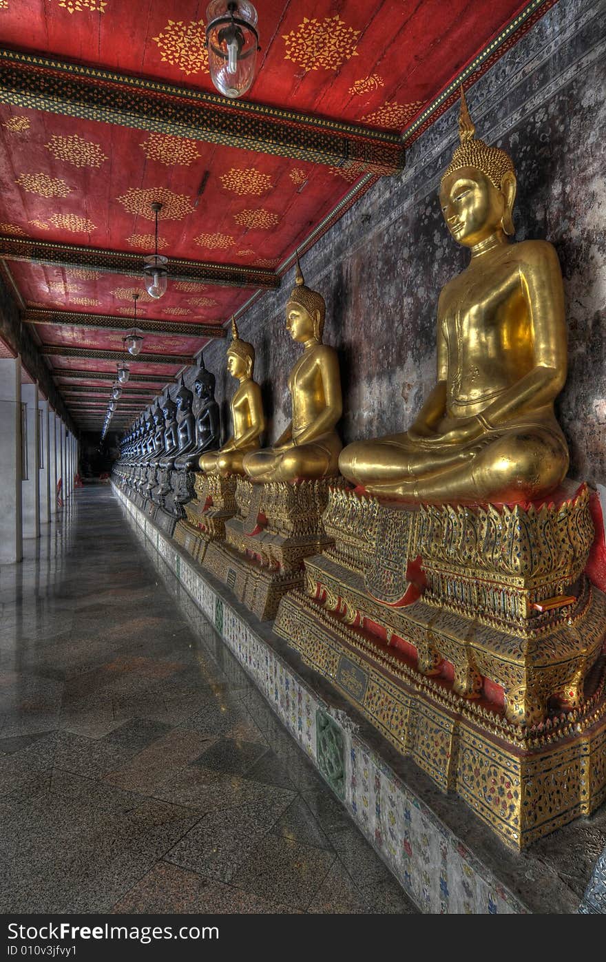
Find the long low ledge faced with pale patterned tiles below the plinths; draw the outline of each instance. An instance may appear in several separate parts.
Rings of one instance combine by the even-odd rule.
[[[391,749],[313,672],[295,670],[297,656],[269,622],[249,616],[229,593],[114,487],[145,546],[155,548],[308,754],[351,818],[422,912],[572,913],[575,896],[549,859],[506,850],[459,799],[442,796],[422,773],[406,783]],[[316,684],[317,678],[317,684]],[[321,694],[320,694],[321,693]],[[336,706],[339,707],[336,707]],[[342,705],[342,708],[341,708]],[[422,784],[422,795],[417,782]],[[440,811],[437,814],[436,809]],[[455,831],[443,820],[454,813]],[[567,830],[564,829],[559,835]],[[543,840],[543,843],[546,840]],[[542,843],[542,844],[543,844]],[[560,856],[552,861],[558,862]],[[562,859],[560,859],[562,861]],[[566,857],[564,858],[566,861]],[[591,870],[588,873],[591,874]],[[583,888],[585,884],[583,885]]]

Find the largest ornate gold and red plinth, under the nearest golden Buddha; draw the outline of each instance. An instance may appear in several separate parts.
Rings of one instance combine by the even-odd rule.
[[[330,492],[274,630],[443,791],[523,848],[606,797],[606,596],[589,492],[405,507]]]

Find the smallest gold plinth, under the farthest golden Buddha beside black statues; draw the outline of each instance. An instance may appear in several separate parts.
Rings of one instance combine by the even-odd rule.
[[[233,518],[238,510],[237,478],[237,474],[195,475],[195,496],[184,505],[187,520],[177,522],[174,537],[196,561],[203,561],[211,542],[224,537],[225,521]]]

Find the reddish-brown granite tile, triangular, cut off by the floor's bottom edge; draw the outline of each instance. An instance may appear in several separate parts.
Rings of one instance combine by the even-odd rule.
[[[215,878],[204,878],[176,865],[158,862],[116,902],[113,911],[124,914],[277,915],[295,910],[288,904],[280,905],[254,893],[223,885]]]

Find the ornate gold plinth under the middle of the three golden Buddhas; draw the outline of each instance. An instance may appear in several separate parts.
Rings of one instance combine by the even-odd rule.
[[[322,514],[336,483],[238,477],[238,514],[225,522],[224,541],[209,545],[203,564],[262,621],[275,618],[283,595],[302,586],[304,559],[331,544]]]

